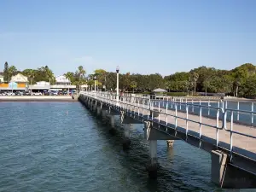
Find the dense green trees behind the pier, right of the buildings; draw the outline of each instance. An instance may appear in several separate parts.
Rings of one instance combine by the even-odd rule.
[[[93,85],[92,77],[96,76],[97,84],[107,90],[115,89],[116,73],[108,73],[98,69],[90,74],[89,85]],[[189,72],[174,73],[162,77],[154,74],[119,74],[119,88],[122,90],[147,92],[156,88],[166,89],[169,92],[183,92],[187,95],[196,95],[198,92],[224,93],[229,96],[254,98],[256,96],[256,67],[245,63],[231,70],[221,70],[214,67],[197,67]]]

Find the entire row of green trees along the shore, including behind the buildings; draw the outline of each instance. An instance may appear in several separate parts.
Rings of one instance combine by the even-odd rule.
[[[16,73],[24,74],[30,84],[38,81],[50,81],[55,84],[54,73],[48,66],[37,69],[17,70],[15,66],[4,64],[3,76],[9,81]],[[84,67],[79,66],[75,72],[64,74],[72,84],[80,87],[81,84],[88,84],[94,89],[94,82],[102,90],[115,90],[116,73],[107,72],[104,69],[96,69],[93,73],[86,75]],[[197,67],[189,72],[178,72],[168,76],[161,76],[160,73],[139,74],[120,73],[119,89],[125,91],[147,92],[156,88],[166,89],[170,92],[184,92],[195,95],[197,92],[224,93],[230,96],[242,96],[254,98],[256,96],[256,67],[251,63],[245,63],[240,67],[231,70],[216,69],[214,67]]]

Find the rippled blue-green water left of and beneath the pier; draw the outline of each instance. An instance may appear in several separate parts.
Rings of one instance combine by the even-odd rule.
[[[182,141],[158,142],[158,178],[148,179],[143,125],[131,125],[125,152],[115,120],[111,135],[79,102],[1,102],[0,191],[222,191],[210,154]]]

